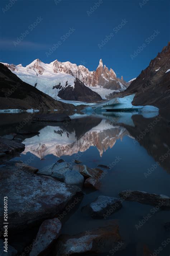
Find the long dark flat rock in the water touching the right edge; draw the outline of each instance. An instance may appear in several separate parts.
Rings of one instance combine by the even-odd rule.
[[[163,207],[170,207],[170,197],[166,195],[157,195],[157,194],[150,194],[145,191],[130,191],[124,190],[119,193],[120,197],[123,197],[124,200],[134,201],[142,204],[150,204],[153,206]]]

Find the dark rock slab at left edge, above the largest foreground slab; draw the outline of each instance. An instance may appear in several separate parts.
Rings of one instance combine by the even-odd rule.
[[[25,149],[25,145],[18,140],[9,140],[0,137],[0,153],[14,154]]]

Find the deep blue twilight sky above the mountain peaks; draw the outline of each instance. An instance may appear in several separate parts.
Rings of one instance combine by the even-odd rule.
[[[1,0],[0,12],[0,61],[16,65],[102,58],[128,81],[170,40],[169,0]]]

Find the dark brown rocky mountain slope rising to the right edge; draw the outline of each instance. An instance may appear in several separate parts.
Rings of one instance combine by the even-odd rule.
[[[129,85],[123,93],[109,98],[136,93],[133,105],[153,105],[170,109],[170,42],[152,59],[149,66]],[[169,70],[169,71],[168,71]]]

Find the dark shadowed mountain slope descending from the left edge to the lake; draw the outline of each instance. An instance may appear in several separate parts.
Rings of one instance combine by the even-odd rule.
[[[0,63],[0,109],[75,109],[24,83]]]

